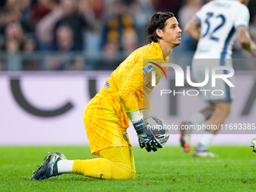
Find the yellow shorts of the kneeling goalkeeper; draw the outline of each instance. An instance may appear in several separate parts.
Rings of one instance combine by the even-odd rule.
[[[109,101],[95,96],[84,111],[84,125],[93,155],[99,155],[99,151],[105,148],[129,147],[126,115],[118,107],[120,102]]]

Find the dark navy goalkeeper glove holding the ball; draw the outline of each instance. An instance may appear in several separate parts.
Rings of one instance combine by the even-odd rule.
[[[163,148],[163,145],[154,137],[151,127],[147,127],[143,119],[133,123],[133,126],[138,134],[139,146],[141,148],[145,147],[148,152],[151,150],[157,151],[157,148]]]

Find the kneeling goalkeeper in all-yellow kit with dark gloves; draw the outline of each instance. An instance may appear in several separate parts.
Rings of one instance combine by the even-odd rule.
[[[147,38],[151,44],[131,53],[85,108],[84,125],[90,150],[102,158],[67,160],[59,152],[49,153],[31,180],[62,173],[105,179],[135,178],[133,148],[126,133],[129,120],[138,133],[141,148],[145,147],[148,152],[163,148],[152,133],[145,132],[143,119],[151,117],[148,96],[154,88],[147,68],[151,63],[146,61],[154,59],[154,67],[159,68],[156,78],[167,71],[168,67],[161,65],[169,61],[172,49],[181,43],[181,29],[174,15],[169,12],[154,14],[147,26]]]

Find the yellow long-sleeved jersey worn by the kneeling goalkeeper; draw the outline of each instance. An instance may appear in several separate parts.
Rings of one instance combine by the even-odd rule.
[[[105,98],[114,108],[118,102],[121,107],[117,108],[126,113],[142,108],[150,109],[148,96],[154,89],[151,85],[151,72],[155,70],[158,84],[160,76],[165,75],[168,69],[162,67],[162,63],[168,61],[168,57],[163,59],[163,51],[158,43],[152,42],[140,47],[112,72],[111,78],[108,78],[97,96]],[[151,63],[154,68],[148,69],[148,65],[152,66]]]

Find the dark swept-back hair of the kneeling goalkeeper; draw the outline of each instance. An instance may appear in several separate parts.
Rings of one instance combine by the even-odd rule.
[[[166,20],[171,17],[174,17],[174,14],[172,14],[171,12],[157,12],[151,17],[147,26],[148,43],[151,43],[152,41],[157,43],[160,39],[162,39],[160,38],[160,36],[157,35],[156,30],[163,30],[166,26]]]

